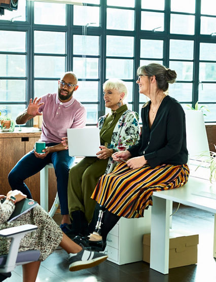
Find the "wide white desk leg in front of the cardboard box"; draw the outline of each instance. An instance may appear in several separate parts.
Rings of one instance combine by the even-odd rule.
[[[153,196],[150,268],[163,274],[169,272],[169,213],[170,201]]]

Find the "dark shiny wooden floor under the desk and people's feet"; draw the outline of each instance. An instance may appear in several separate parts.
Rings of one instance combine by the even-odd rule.
[[[174,204],[174,209],[176,203]],[[213,259],[213,223],[211,213],[181,205],[172,219],[173,230],[188,230],[199,234],[198,263],[172,268],[163,275],[150,269],[145,262],[117,265],[105,261],[99,266],[77,272],[68,271],[67,254],[59,249],[42,262],[37,282],[215,282],[216,260]],[[125,246],[127,248],[127,246]],[[22,269],[17,267],[6,281],[21,282]]]

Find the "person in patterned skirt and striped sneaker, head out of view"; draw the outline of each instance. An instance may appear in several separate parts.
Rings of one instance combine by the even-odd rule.
[[[38,226],[37,230],[26,234],[20,242],[19,252],[39,250],[41,253],[39,261],[22,266],[23,282],[35,281],[41,261],[44,261],[59,244],[69,254],[70,271],[98,265],[107,258],[102,253],[87,251],[70,240],[40,205],[33,207],[17,219],[7,222],[15,209],[15,203],[26,198],[26,195],[18,190],[14,190],[9,191],[7,196],[0,195],[0,198],[4,197],[6,197],[6,200],[3,203],[0,201],[0,230],[23,224]],[[7,254],[9,252],[10,239],[0,237],[0,242],[0,255]]]

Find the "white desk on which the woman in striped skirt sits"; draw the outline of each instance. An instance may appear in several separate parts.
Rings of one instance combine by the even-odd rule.
[[[163,274],[169,272],[170,203],[175,201],[216,214],[216,185],[208,180],[189,177],[181,188],[153,193],[151,221],[150,268]],[[216,217],[214,216],[213,257],[216,258]]]

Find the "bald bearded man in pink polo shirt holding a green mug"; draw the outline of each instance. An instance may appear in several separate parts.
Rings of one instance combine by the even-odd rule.
[[[52,163],[57,179],[57,191],[61,208],[62,221],[60,227],[70,224],[67,207],[67,182],[69,167],[74,158],[68,155],[68,150],[61,144],[61,138],[66,136],[67,128],[84,127],[86,124],[86,110],[83,105],[73,97],[78,89],[78,79],[72,72],[64,73],[58,81],[58,93],[47,94],[39,99],[30,99],[28,108],[20,114],[17,124],[24,124],[35,116],[42,115],[41,141],[46,142],[44,154],[35,150],[27,153],[14,166],[8,175],[9,184],[32,198],[24,180]]]

